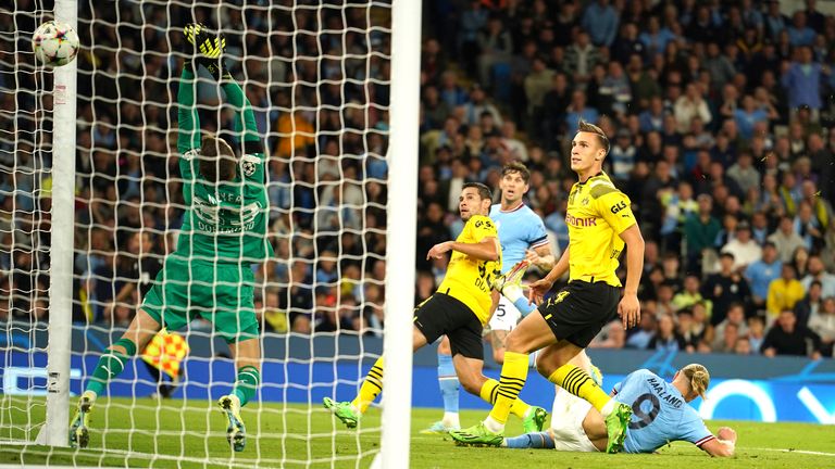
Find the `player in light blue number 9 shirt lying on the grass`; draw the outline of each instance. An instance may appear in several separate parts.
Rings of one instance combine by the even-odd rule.
[[[678,370],[672,382],[641,369],[615,384],[614,398],[633,409],[623,451],[653,453],[670,442],[687,441],[711,456],[733,456],[736,432],[722,427],[719,438],[713,436],[696,409],[687,404],[696,397],[703,398],[709,384],[708,370],[698,364]],[[558,388],[548,431],[506,438],[499,446],[602,452],[607,443],[606,423],[600,413],[586,401]]]

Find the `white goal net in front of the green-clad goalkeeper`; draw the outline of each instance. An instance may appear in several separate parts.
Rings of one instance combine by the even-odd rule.
[[[48,0],[0,7],[9,20],[0,24],[0,453],[27,464],[367,467],[379,451],[381,413],[346,430],[322,398],[350,400],[383,353],[384,304],[392,296],[391,1],[78,0],[77,88],[66,97],[54,87],[60,71],[37,65],[29,45],[53,11]],[[70,358],[68,410],[58,417],[66,429],[63,416],[72,416],[100,356],[177,248],[189,206],[177,92],[183,27],[191,22],[225,35],[224,56],[269,157],[275,255],[252,265],[263,360],[260,389],[241,413],[247,447],[233,454],[226,442],[215,401],[230,392],[236,368],[201,315],[127,362],[94,407],[88,448],[35,446],[50,393],[59,392],[48,353]],[[240,110],[204,69],[192,87],[201,130],[239,151]],[[59,97],[76,100],[74,174],[53,164],[53,128],[66,124],[53,112]],[[74,194],[53,193],[59,179]],[[52,223],[60,197],[74,207],[74,223]],[[57,312],[50,281],[60,236],[74,245],[72,307]],[[61,352],[50,329],[67,315],[72,340]]]

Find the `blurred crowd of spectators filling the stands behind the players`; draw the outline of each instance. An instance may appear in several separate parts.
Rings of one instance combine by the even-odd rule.
[[[129,321],[175,245],[183,55],[172,52],[198,20],[223,25],[270,148],[276,258],[258,267],[263,329],[378,334],[389,9],[163,3],[82,2],[92,47],[78,59],[75,319]],[[460,231],[461,186],[486,182],[498,201],[511,161],[531,169],[526,203],[559,255],[576,180],[566,144],[584,118],[609,135],[605,169],[647,241],[640,327],[613,324],[594,346],[831,356],[832,3],[424,1],[415,302],[444,276],[445,261],[424,258]],[[0,129],[17,131],[0,135],[0,319],[42,319],[51,159],[49,123],[35,123],[51,107],[36,91],[49,76],[9,34],[35,29],[34,2],[15,8],[16,26],[0,26],[0,50],[18,51],[0,55],[0,88],[17,90],[0,97]],[[229,128],[216,87],[199,96],[203,128]]]

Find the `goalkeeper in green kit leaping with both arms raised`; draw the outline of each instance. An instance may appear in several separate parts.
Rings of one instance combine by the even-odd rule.
[[[235,386],[217,404],[228,418],[227,439],[234,449],[244,451],[246,445],[240,407],[261,381],[251,264],[273,255],[266,239],[265,154],[249,101],[223,64],[225,38],[201,24],[190,24],[184,31],[194,48],[189,51],[194,63],[186,61],[177,92],[177,150],[187,206],[177,249],[165,258],[127,331],[99,359],[72,421],[72,446],[87,446],[87,423],[96,398],[137,350],[144,350],[163,327],[177,330],[196,317],[214,325],[235,358]],[[219,80],[227,103],[236,110],[240,156],[216,136],[201,136],[195,104],[198,65]]]

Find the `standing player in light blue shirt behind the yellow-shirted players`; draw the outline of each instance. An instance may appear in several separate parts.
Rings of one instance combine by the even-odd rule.
[[[513,162],[501,169],[501,203],[490,207],[490,219],[496,224],[501,244],[502,274],[519,268],[518,263],[527,261],[549,271],[554,258],[548,243],[545,224],[539,216],[525,205],[522,198],[531,188],[531,173],[525,165]],[[524,270],[519,274],[522,277]],[[503,284],[504,277],[499,277],[495,283]],[[527,299],[519,296],[514,304],[506,296],[499,297],[496,310],[490,317],[487,337],[493,346],[493,359],[497,364],[504,362],[504,339],[516,326],[516,322],[536,309]],[[444,418],[436,421],[422,433],[445,434],[449,430],[459,430],[458,402],[459,381],[452,365],[452,354],[449,340],[444,337],[438,344],[438,384],[444,397]]]

